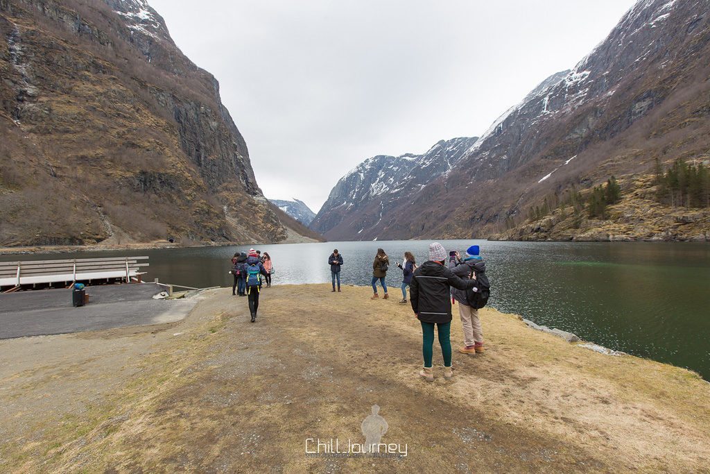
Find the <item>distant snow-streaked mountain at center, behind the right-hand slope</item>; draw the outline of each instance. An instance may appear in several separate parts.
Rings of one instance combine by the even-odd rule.
[[[439,141],[422,155],[378,155],[341,178],[311,222],[329,239],[373,239],[390,229],[392,211],[458,163],[476,137]]]

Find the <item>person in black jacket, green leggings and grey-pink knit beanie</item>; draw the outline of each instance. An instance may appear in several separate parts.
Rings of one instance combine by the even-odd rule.
[[[444,265],[447,253],[442,244],[434,242],[429,246],[429,260],[414,271],[410,284],[410,302],[412,309],[422,324],[422,355],[424,367],[420,377],[428,382],[434,380],[432,357],[434,347],[434,328],[439,333],[439,345],[444,357],[444,378],[451,379],[454,372],[451,366],[451,288],[459,290],[473,288],[475,280],[464,280]]]

